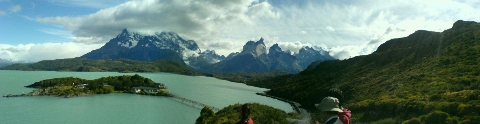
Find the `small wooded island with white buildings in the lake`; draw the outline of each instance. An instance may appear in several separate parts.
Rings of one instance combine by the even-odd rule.
[[[27,94],[6,95],[3,97],[17,96],[60,96],[70,98],[91,94],[106,93],[136,93],[144,95],[168,95],[168,87],[163,83],[155,83],[151,79],[138,74],[102,77],[95,80],[86,80],[74,77],[54,78],[36,82],[25,86],[40,88]]]

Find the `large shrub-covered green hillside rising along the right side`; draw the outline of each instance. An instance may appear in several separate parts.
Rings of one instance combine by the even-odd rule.
[[[480,23],[456,21],[443,32],[386,41],[369,55],[319,62],[250,85],[271,87],[269,95],[312,110],[324,92],[339,88],[356,123],[480,124],[479,62]]]

